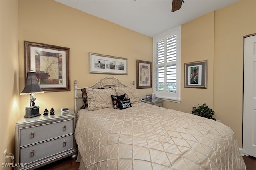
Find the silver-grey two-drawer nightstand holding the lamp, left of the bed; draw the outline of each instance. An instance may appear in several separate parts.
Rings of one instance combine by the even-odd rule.
[[[15,127],[15,160],[18,169],[35,169],[61,158],[76,158],[76,115],[55,111],[54,115],[24,118]]]

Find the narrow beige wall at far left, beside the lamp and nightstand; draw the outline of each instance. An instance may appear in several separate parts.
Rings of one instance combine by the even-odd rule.
[[[0,17],[0,163],[4,163],[4,150],[14,153],[14,127],[20,118],[18,1],[1,0]]]

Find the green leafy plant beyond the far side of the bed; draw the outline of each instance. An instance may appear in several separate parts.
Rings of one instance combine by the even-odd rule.
[[[194,115],[198,115],[201,117],[206,117],[208,119],[213,119],[214,121],[216,121],[216,119],[213,117],[214,116],[214,111],[209,108],[206,103],[204,103],[203,105],[199,105],[197,103],[198,107],[194,106],[193,107],[193,111],[192,114]]]

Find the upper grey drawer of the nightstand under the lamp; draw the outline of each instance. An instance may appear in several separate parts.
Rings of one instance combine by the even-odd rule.
[[[20,128],[20,147],[73,133],[73,119]]]

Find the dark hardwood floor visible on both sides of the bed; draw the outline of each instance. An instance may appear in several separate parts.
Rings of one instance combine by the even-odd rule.
[[[247,170],[256,170],[256,158],[252,156],[243,156]],[[51,164],[37,168],[36,170],[78,170],[79,163],[72,158],[67,157]]]

